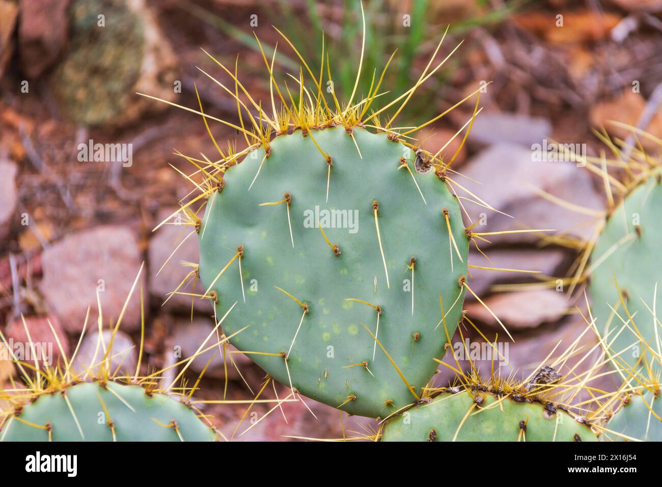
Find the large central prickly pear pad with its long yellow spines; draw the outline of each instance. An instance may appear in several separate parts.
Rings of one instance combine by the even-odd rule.
[[[365,42],[365,20],[363,27]],[[200,98],[197,110],[145,95],[201,115],[220,156],[177,153],[195,166],[184,175],[195,189],[156,229],[171,219],[193,227],[201,258],[183,263],[193,270],[170,296],[211,299],[226,337],[292,395],[384,417],[422,396],[437,368],[433,358],[444,356],[457,328],[465,290],[473,294],[469,243],[478,247],[494,234],[474,233],[480,222],[462,221],[461,197],[498,210],[463,188],[450,168],[479,112],[480,88],[418,127],[396,127],[416,89],[446,61],[432,68],[444,38],[418,81],[371,111],[387,94],[380,87],[391,60],[362,97],[362,44],[354,89],[341,102],[330,64],[313,73],[281,36],[301,69],[279,81],[258,40],[266,102],[242,85],[238,64],[233,74],[208,54],[234,81],[233,91],[204,72],[234,96],[239,125],[207,115]],[[443,154],[448,144],[434,154],[420,148],[420,129],[474,96],[453,156]],[[231,127],[247,147],[220,148],[208,120]],[[195,292],[197,279],[203,292]]]

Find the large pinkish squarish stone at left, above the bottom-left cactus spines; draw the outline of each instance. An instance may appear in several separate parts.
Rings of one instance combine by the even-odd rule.
[[[64,237],[44,250],[41,291],[67,331],[83,329],[89,307],[88,329],[97,323],[97,289],[103,323],[115,323],[140,269],[140,250],[132,230],[103,225]],[[140,288],[143,270],[122,318],[121,329],[140,328]]]

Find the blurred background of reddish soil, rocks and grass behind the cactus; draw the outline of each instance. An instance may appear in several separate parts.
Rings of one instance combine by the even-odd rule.
[[[534,163],[532,146],[544,140],[585,143],[587,154],[599,155],[606,147],[592,129],[608,127],[612,119],[662,138],[662,1],[366,0],[365,11],[364,91],[373,68],[379,72],[396,47],[385,86],[402,91],[412,85],[450,24],[439,58],[460,40],[463,45],[421,87],[401,125],[430,119],[492,81],[481,93],[485,108],[453,167],[467,176],[462,181],[468,189],[513,217],[485,212],[487,231],[505,225],[557,230],[547,237],[491,239],[481,246],[491,260],[472,249],[476,265],[541,271],[471,272],[472,289],[515,340],[502,374],[527,376],[559,341],[558,351],[576,340],[589,351],[595,339],[582,335],[583,295],[570,299],[567,289],[559,292],[544,283],[576,269],[594,220],[590,212],[541,197],[541,191],[600,210],[602,181],[575,164]],[[408,26],[404,15],[410,16]],[[214,147],[199,117],[135,93],[196,107],[195,83],[205,112],[236,123],[236,103],[197,67],[228,86],[232,80],[201,48],[229,66],[239,53],[240,80],[256,99],[266,100],[268,78],[252,32],[274,46],[279,36],[271,25],[314,61],[324,28],[336,89],[341,94],[351,89],[361,46],[360,7],[354,0],[0,0],[0,329],[8,339],[26,340],[23,314],[33,341],[52,342],[53,327],[64,337],[64,352],[72,351],[86,315],[89,325],[96,323],[97,290],[109,326],[145,262],[138,281],[146,323],[144,371],[175,362],[174,349],[195,352],[212,327],[208,301],[175,296],[162,304],[188,272],[180,262],[197,262],[197,243],[185,241],[162,268],[187,232],[177,226],[152,229],[190,190],[170,167],[188,169],[173,150],[212,154]],[[279,43],[277,69],[297,71],[295,54],[285,47]],[[473,105],[463,105],[426,127],[418,135],[420,144],[436,152],[472,111]],[[217,140],[236,140],[238,148],[245,144],[222,125],[213,125],[213,133]],[[81,161],[78,146],[88,140],[132,144],[132,164]],[[445,156],[455,154],[459,140],[447,146]],[[483,213],[478,207],[469,211],[474,221]],[[539,285],[522,286],[532,282]],[[120,362],[133,366],[140,294],[128,303],[116,339]],[[498,333],[504,341],[500,325],[475,299],[468,297],[464,309],[486,337],[493,340]],[[483,341],[468,324],[461,331],[471,342]],[[90,333],[81,344],[81,367],[91,360],[96,340]],[[460,340],[458,332],[453,341]],[[579,356],[560,371],[567,372]],[[237,367],[228,363],[227,378],[220,356],[212,358],[196,398],[222,399],[226,380],[228,400],[254,396],[264,373],[246,356],[232,357]],[[208,358],[195,361],[191,377]],[[449,357],[445,361],[453,363]],[[469,368],[466,360],[461,364]],[[477,365],[485,372],[491,366],[485,360]],[[574,373],[591,365],[585,360]],[[16,375],[13,364],[0,361],[0,386]],[[436,384],[444,385],[448,377],[440,368]],[[608,377],[596,384],[614,386]],[[287,387],[270,386],[265,397],[276,393],[287,396]],[[246,421],[237,436],[248,427],[240,439],[337,438],[375,428],[373,420],[341,417],[336,409],[303,401],[285,403],[257,424]],[[207,404],[205,413],[231,435],[245,408]],[[253,410],[261,417],[270,408],[258,404]]]

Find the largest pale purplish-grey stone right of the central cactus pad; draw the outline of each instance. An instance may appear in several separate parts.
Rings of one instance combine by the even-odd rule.
[[[459,184],[511,217],[463,200],[472,222],[485,225],[475,232],[552,229],[581,239],[589,239],[598,219],[578,213],[542,197],[536,189],[551,193],[562,201],[591,210],[603,211],[604,200],[596,191],[591,174],[575,162],[534,160],[531,148],[516,144],[496,144],[486,148],[463,166],[461,174],[451,176]],[[472,181],[475,180],[475,181]],[[481,182],[483,184],[481,184]],[[465,195],[455,188],[459,195]],[[544,235],[555,235],[545,232]],[[489,235],[492,243],[536,243],[536,233]],[[480,244],[480,243],[479,243]],[[485,246],[485,244],[483,244]]]

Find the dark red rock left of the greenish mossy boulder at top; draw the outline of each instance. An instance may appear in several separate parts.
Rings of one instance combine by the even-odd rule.
[[[69,0],[21,0],[19,53],[28,78],[44,74],[64,50],[68,7]]]

